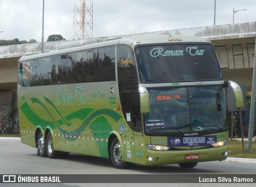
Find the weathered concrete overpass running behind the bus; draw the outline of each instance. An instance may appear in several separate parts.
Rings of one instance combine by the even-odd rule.
[[[251,91],[256,22],[136,33],[121,37],[159,34],[190,35],[210,39],[224,79],[244,83],[246,91]],[[55,50],[58,45],[70,41],[45,42],[44,51]],[[23,55],[41,51],[42,43],[0,46],[0,90],[16,90],[18,59]]]

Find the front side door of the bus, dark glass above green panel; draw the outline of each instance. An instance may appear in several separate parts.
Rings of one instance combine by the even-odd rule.
[[[124,128],[126,161],[138,162],[143,156],[142,122],[139,93],[122,91],[121,106],[129,128]]]

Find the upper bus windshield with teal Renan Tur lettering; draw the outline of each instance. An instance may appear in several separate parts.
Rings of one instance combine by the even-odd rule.
[[[150,45],[135,51],[141,83],[222,79],[214,50],[208,44]]]

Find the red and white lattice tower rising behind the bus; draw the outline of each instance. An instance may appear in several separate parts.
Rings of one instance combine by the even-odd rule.
[[[92,37],[92,1],[74,0],[73,39]]]

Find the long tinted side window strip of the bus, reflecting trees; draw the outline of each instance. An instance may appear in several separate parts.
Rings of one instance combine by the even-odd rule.
[[[115,81],[115,47],[20,62],[19,84],[26,86]]]

